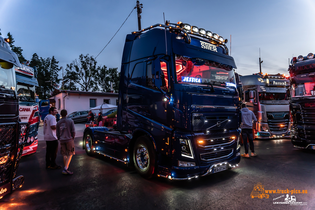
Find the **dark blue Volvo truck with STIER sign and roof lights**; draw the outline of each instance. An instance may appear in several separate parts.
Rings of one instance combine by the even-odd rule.
[[[227,40],[183,24],[127,34],[117,127],[89,127],[83,149],[144,178],[190,180],[240,162],[240,109]]]

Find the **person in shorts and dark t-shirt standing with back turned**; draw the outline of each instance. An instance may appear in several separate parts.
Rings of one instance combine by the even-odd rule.
[[[72,175],[73,172],[68,170],[74,151],[75,127],[71,119],[67,119],[67,111],[63,109],[60,112],[62,119],[57,122],[56,133],[61,145],[61,154],[63,155],[64,169],[63,174]]]

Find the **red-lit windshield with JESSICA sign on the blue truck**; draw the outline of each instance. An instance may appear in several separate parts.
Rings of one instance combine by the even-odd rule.
[[[181,84],[233,86],[233,67],[203,59],[192,59],[176,55],[177,82]]]

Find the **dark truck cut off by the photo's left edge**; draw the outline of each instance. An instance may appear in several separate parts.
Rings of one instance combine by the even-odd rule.
[[[28,123],[19,122],[14,66],[21,67],[18,57],[0,36],[0,198],[24,183],[16,177],[23,147],[28,138]]]

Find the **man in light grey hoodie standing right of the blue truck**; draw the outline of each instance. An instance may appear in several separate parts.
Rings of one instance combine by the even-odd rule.
[[[241,154],[242,157],[250,157],[250,154],[248,153],[248,144],[247,144],[247,139],[250,142],[250,149],[252,151],[251,156],[256,156],[255,151],[254,151],[254,143],[252,139],[252,123],[255,123],[257,121],[254,113],[250,111],[247,107],[246,104],[243,103],[241,105],[241,115],[242,115],[242,138],[244,142],[244,148],[245,148],[245,153]]]

